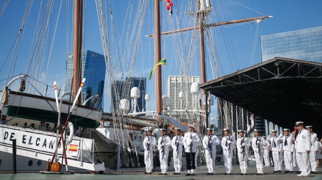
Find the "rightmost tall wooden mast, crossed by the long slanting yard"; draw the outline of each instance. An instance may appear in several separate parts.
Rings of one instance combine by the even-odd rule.
[[[198,0],[198,9],[200,10],[200,0]],[[204,18],[203,13],[199,12],[199,50],[200,50],[200,77],[201,77],[201,84],[206,82],[206,63],[205,63],[205,43],[204,43]],[[205,94],[205,91],[201,90],[201,99],[203,98]],[[206,99],[207,101],[207,99]],[[205,106],[203,103],[201,103],[202,111],[205,111]],[[202,112],[204,114],[204,112]],[[206,113],[207,114],[207,113]],[[208,119],[208,118],[206,118]],[[204,118],[202,118],[202,124],[203,124]],[[208,127],[206,127],[208,128]]]

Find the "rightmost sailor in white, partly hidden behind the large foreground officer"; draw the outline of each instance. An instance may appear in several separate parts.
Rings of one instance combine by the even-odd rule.
[[[311,151],[310,151],[310,163],[311,174],[317,174],[318,171],[318,159],[317,153],[319,150],[319,138],[316,133],[312,132],[312,126],[305,126],[306,130],[311,134]]]

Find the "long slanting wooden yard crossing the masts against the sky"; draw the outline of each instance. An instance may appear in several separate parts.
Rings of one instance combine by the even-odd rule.
[[[241,22],[251,22],[251,21],[262,21],[266,18],[271,18],[272,16],[262,16],[262,17],[256,17],[256,18],[247,18],[247,19],[242,19],[242,20],[232,20],[232,21],[227,21],[227,22],[217,22],[217,23],[211,23],[211,24],[206,24],[204,25],[204,27],[209,28],[209,27],[215,27],[215,26],[220,26],[220,25],[227,25],[227,24],[234,24],[234,23],[241,23]],[[195,30],[198,29],[199,26],[195,26],[195,27],[188,27],[188,28],[183,28],[183,29],[177,29],[177,30],[173,30],[173,31],[167,31],[167,32],[162,32],[161,36],[163,35],[169,35],[169,34],[174,34],[174,33],[178,33],[178,32],[185,32],[185,31],[191,31],[191,30]],[[154,37],[155,34],[149,34],[146,37]]]

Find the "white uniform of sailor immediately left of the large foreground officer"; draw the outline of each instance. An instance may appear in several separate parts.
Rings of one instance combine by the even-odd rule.
[[[282,137],[282,150],[284,152],[284,164],[286,171],[293,171],[294,140],[293,135]]]

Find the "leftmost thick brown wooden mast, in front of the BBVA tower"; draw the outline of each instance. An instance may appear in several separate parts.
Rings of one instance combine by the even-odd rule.
[[[81,46],[82,46],[82,14],[83,0],[74,0],[74,83],[73,96],[76,97],[81,82]],[[81,94],[77,104],[81,103]]]

